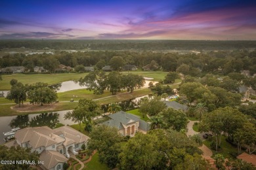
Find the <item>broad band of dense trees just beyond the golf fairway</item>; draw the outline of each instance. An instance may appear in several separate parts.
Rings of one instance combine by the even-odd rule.
[[[158,66],[163,71],[184,72],[197,75],[199,71],[205,73],[219,72],[228,74],[242,70],[249,70],[251,75],[256,73],[256,50],[218,51],[200,54],[178,54],[163,52],[131,52],[131,51],[87,51],[87,52],[56,52],[55,54],[14,54],[0,58],[0,68],[10,66],[24,66],[33,71],[35,66],[43,66],[47,70],[54,70],[60,63],[66,66],[77,65],[95,66],[102,69],[104,65],[111,65],[110,60],[120,56],[121,65],[132,64],[142,69],[145,65]],[[117,61],[115,61],[117,62]],[[112,65],[115,63],[112,63]],[[50,67],[52,66],[52,67]]]

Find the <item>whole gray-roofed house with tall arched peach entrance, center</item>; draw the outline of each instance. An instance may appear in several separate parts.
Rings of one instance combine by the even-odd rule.
[[[108,117],[110,120],[107,120],[102,124],[116,127],[122,136],[129,135],[134,137],[138,131],[145,134],[150,130],[150,124],[141,120],[139,116],[135,116],[127,112],[119,111],[108,115]]]

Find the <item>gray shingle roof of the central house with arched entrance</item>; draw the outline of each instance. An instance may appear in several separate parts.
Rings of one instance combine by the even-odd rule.
[[[103,122],[102,124],[105,124],[107,126],[117,127],[117,129],[123,129],[123,125],[128,125],[133,122],[139,122],[139,129],[142,129],[143,131],[150,130],[150,124],[145,122],[144,120],[140,120],[139,117],[129,114],[127,112],[119,111],[114,114],[108,115],[111,119],[107,120],[106,122]],[[123,125],[122,125],[123,124]]]

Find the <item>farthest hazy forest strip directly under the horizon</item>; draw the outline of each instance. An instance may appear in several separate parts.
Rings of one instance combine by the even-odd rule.
[[[41,50],[236,50],[255,48],[256,41],[171,40],[0,40],[0,49]]]

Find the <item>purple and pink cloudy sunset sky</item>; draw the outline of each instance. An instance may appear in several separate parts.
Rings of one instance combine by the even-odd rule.
[[[1,0],[0,39],[256,40],[255,0]]]

